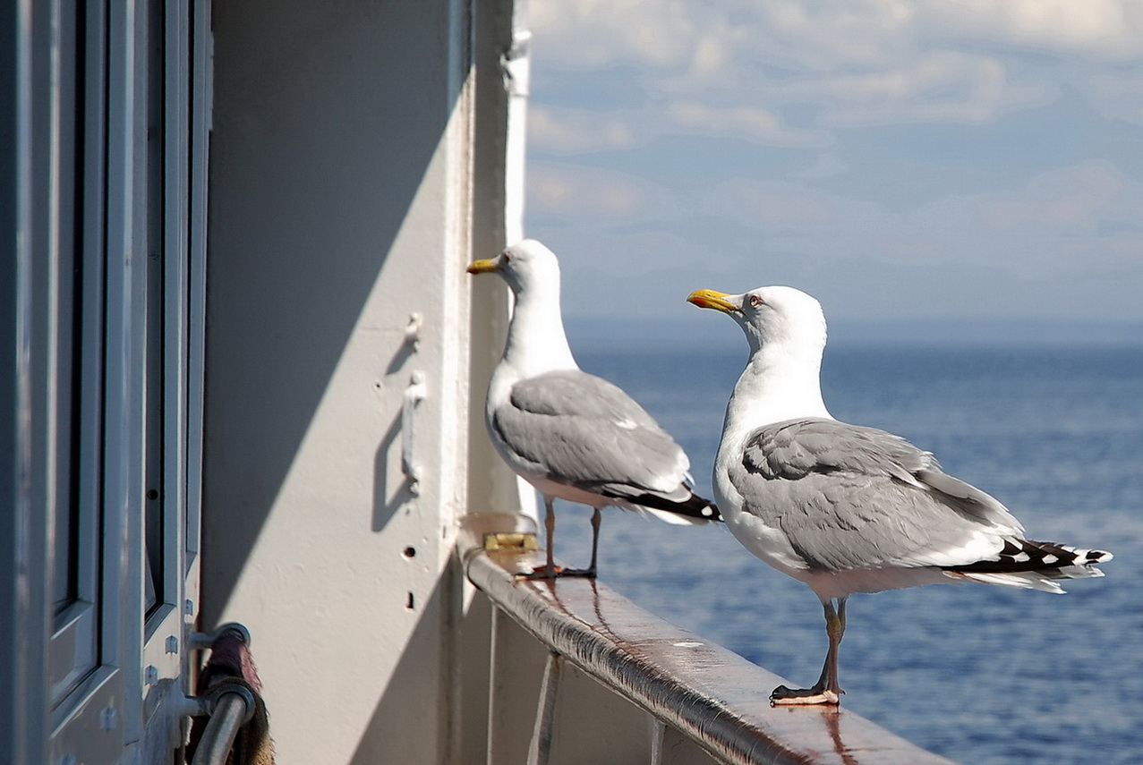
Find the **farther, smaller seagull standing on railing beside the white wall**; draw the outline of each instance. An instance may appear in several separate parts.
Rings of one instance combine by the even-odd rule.
[[[538,578],[596,575],[600,508],[608,505],[669,523],[718,521],[694,492],[690,461],[650,414],[607,380],[580,370],[560,319],[560,266],[535,240],[498,258],[477,260],[470,274],[495,272],[515,295],[507,341],[485,404],[496,451],[544,496],[547,564]],[[590,505],[591,565],[558,572],[552,562],[559,497]]]

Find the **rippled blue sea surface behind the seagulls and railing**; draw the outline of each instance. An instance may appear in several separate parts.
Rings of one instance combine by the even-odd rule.
[[[687,450],[701,491],[741,353],[580,353]],[[1032,539],[1116,554],[1066,595],[985,585],[855,595],[842,703],[962,763],[1143,762],[1143,348],[829,348],[834,417],[905,436],[992,493]],[[560,504],[557,556],[590,555]],[[825,654],[821,606],[721,525],[607,510],[600,577],[797,685]],[[770,688],[759,688],[768,694]]]

